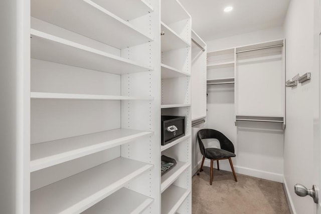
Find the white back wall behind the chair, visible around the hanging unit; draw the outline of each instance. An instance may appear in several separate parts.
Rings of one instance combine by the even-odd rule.
[[[282,28],[272,28],[233,37],[207,41],[208,52],[246,46],[284,38]],[[207,123],[205,128],[217,129],[234,144],[237,173],[282,182],[283,138],[280,124],[264,122],[238,122],[235,126],[234,85],[207,87]],[[202,156],[197,153],[198,163]],[[205,162],[209,166],[209,161]],[[193,168],[193,166],[192,166]],[[220,161],[220,168],[231,170],[228,161]]]

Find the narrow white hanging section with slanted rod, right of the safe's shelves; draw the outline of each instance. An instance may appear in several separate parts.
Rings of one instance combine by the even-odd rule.
[[[192,121],[206,117],[206,48],[192,30]]]

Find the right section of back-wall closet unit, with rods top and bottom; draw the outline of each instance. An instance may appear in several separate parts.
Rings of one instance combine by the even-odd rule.
[[[285,126],[284,41],[236,48],[236,121]]]

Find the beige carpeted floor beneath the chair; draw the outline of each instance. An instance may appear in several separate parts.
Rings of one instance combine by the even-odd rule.
[[[204,167],[193,176],[193,214],[290,213],[283,184],[232,172]]]

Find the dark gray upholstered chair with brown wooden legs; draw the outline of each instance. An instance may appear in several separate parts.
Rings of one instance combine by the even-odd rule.
[[[200,168],[200,172],[203,171],[203,164],[205,158],[208,158],[211,160],[211,173],[210,173],[210,185],[212,185],[212,180],[213,180],[213,161],[217,161],[217,169],[220,170],[219,167],[219,160],[224,160],[224,159],[229,159],[230,165],[232,168],[232,172],[234,175],[235,181],[236,179],[236,174],[234,171],[233,163],[231,157],[235,157],[236,155],[234,154],[234,145],[233,143],[221,132],[214,130],[214,129],[201,129],[197,133],[197,138],[199,141],[200,145],[200,150],[203,155],[203,160],[202,160],[202,165]],[[209,139],[209,138],[214,138],[217,139],[220,142],[221,148],[205,148],[203,139]],[[197,173],[198,175],[200,173]]]

